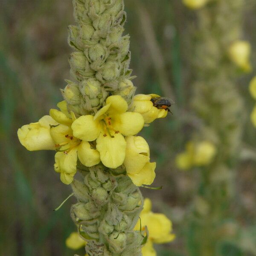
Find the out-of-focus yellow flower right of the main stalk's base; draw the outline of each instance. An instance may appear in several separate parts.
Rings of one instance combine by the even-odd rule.
[[[144,200],[143,211],[140,213],[142,230],[148,228],[148,241],[142,248],[143,256],[156,256],[153,244],[169,243],[175,239],[172,233],[172,222],[162,213],[151,212],[151,201]],[[140,230],[140,220],[135,226],[135,230]]]

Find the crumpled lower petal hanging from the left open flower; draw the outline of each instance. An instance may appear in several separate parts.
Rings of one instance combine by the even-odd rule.
[[[61,181],[70,184],[76,174],[77,148],[73,148],[68,153],[57,152],[55,154],[55,172],[61,173]]]

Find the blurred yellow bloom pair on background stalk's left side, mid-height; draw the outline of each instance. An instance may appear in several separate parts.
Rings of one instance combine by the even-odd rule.
[[[187,170],[192,166],[206,166],[212,162],[216,154],[216,147],[209,141],[186,144],[186,151],[176,156],[176,166],[179,169]]]

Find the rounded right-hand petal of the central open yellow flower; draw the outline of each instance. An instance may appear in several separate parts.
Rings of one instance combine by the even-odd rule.
[[[144,125],[143,116],[136,112],[125,112],[111,116],[113,128],[125,136],[137,134]]]

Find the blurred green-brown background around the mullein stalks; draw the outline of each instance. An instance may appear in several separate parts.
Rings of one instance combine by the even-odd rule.
[[[252,44],[251,61],[256,67],[256,3],[249,2],[243,11],[243,36]],[[142,133],[151,147],[151,159],[157,161],[153,185],[163,186],[158,191],[142,189],[143,195],[151,198],[155,212],[171,218],[177,235],[172,243],[156,246],[157,252],[196,255],[187,222],[198,192],[198,172],[175,167],[175,156],[194,129],[189,102],[196,78],[188,51],[193,47],[190,35],[196,14],[180,0],[125,0],[125,4],[137,93],[157,93],[175,101],[173,115],[156,120]],[[16,134],[20,126],[36,122],[61,101],[59,88],[70,78],[67,26],[74,23],[72,15],[71,0],[0,1],[0,255],[74,254],[65,247],[65,239],[75,230],[69,216],[75,198],[52,211],[71,193],[53,170],[54,152],[26,151]],[[251,157],[239,162],[228,216],[243,232],[238,240],[219,241],[215,255],[256,255],[256,130],[249,119],[254,101],[248,93],[252,76],[238,76],[236,82],[246,107],[243,145]]]

